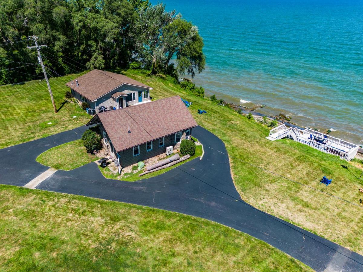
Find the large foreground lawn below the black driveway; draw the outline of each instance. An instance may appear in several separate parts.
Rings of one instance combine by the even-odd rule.
[[[249,235],[148,207],[0,185],[0,212],[1,271],[310,270]]]

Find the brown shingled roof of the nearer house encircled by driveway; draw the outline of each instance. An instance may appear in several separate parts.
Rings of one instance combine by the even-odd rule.
[[[117,152],[197,125],[180,96],[100,112],[97,116]]]

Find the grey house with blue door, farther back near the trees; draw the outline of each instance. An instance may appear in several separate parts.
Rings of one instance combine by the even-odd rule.
[[[149,102],[149,91],[152,90],[150,86],[126,75],[97,69],[81,75],[66,85],[70,87],[74,98],[86,102],[95,112]]]

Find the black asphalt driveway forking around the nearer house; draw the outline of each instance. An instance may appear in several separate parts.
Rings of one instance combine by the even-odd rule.
[[[52,146],[78,139],[79,132],[83,130],[84,127],[1,149],[1,160],[6,161],[6,155],[19,159],[19,165],[12,169],[3,168],[4,163],[1,164],[1,183],[23,186],[47,169],[34,162],[37,154]],[[189,161],[160,176],[138,182],[109,180],[102,176],[96,164],[90,163],[71,171],[58,170],[37,189],[194,215],[264,240],[317,271],[363,270],[363,256],[242,201],[232,182],[223,142],[201,127],[193,129],[193,135],[205,145],[203,160]],[[19,172],[20,166],[27,170]]]

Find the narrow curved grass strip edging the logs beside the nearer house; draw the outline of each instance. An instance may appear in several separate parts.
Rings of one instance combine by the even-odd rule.
[[[155,176],[158,176],[162,173],[165,173],[175,167],[178,167],[182,164],[184,164],[185,162],[188,162],[188,161],[191,161],[197,157],[200,157],[202,155],[202,147],[201,145],[197,145],[195,147],[195,154],[193,156],[191,156],[190,158],[188,158],[188,160],[185,160],[185,161],[182,161],[182,162],[179,162],[178,164],[175,164],[173,166],[170,166],[168,168],[165,168],[165,169],[161,169],[159,171],[155,171],[155,172],[152,172],[152,173],[148,173],[148,174],[145,174],[141,177],[139,177],[139,174],[144,172],[144,169],[141,169],[140,171],[136,172],[136,173],[130,173],[130,174],[125,174],[124,176],[120,176],[118,174],[114,174],[111,172],[111,170],[109,168],[102,168],[101,166],[98,166],[99,170],[102,172],[103,176],[105,176],[106,178],[111,178],[113,180],[123,180],[123,181],[138,181],[138,180],[143,180],[145,178],[151,178],[151,177],[155,177]]]

